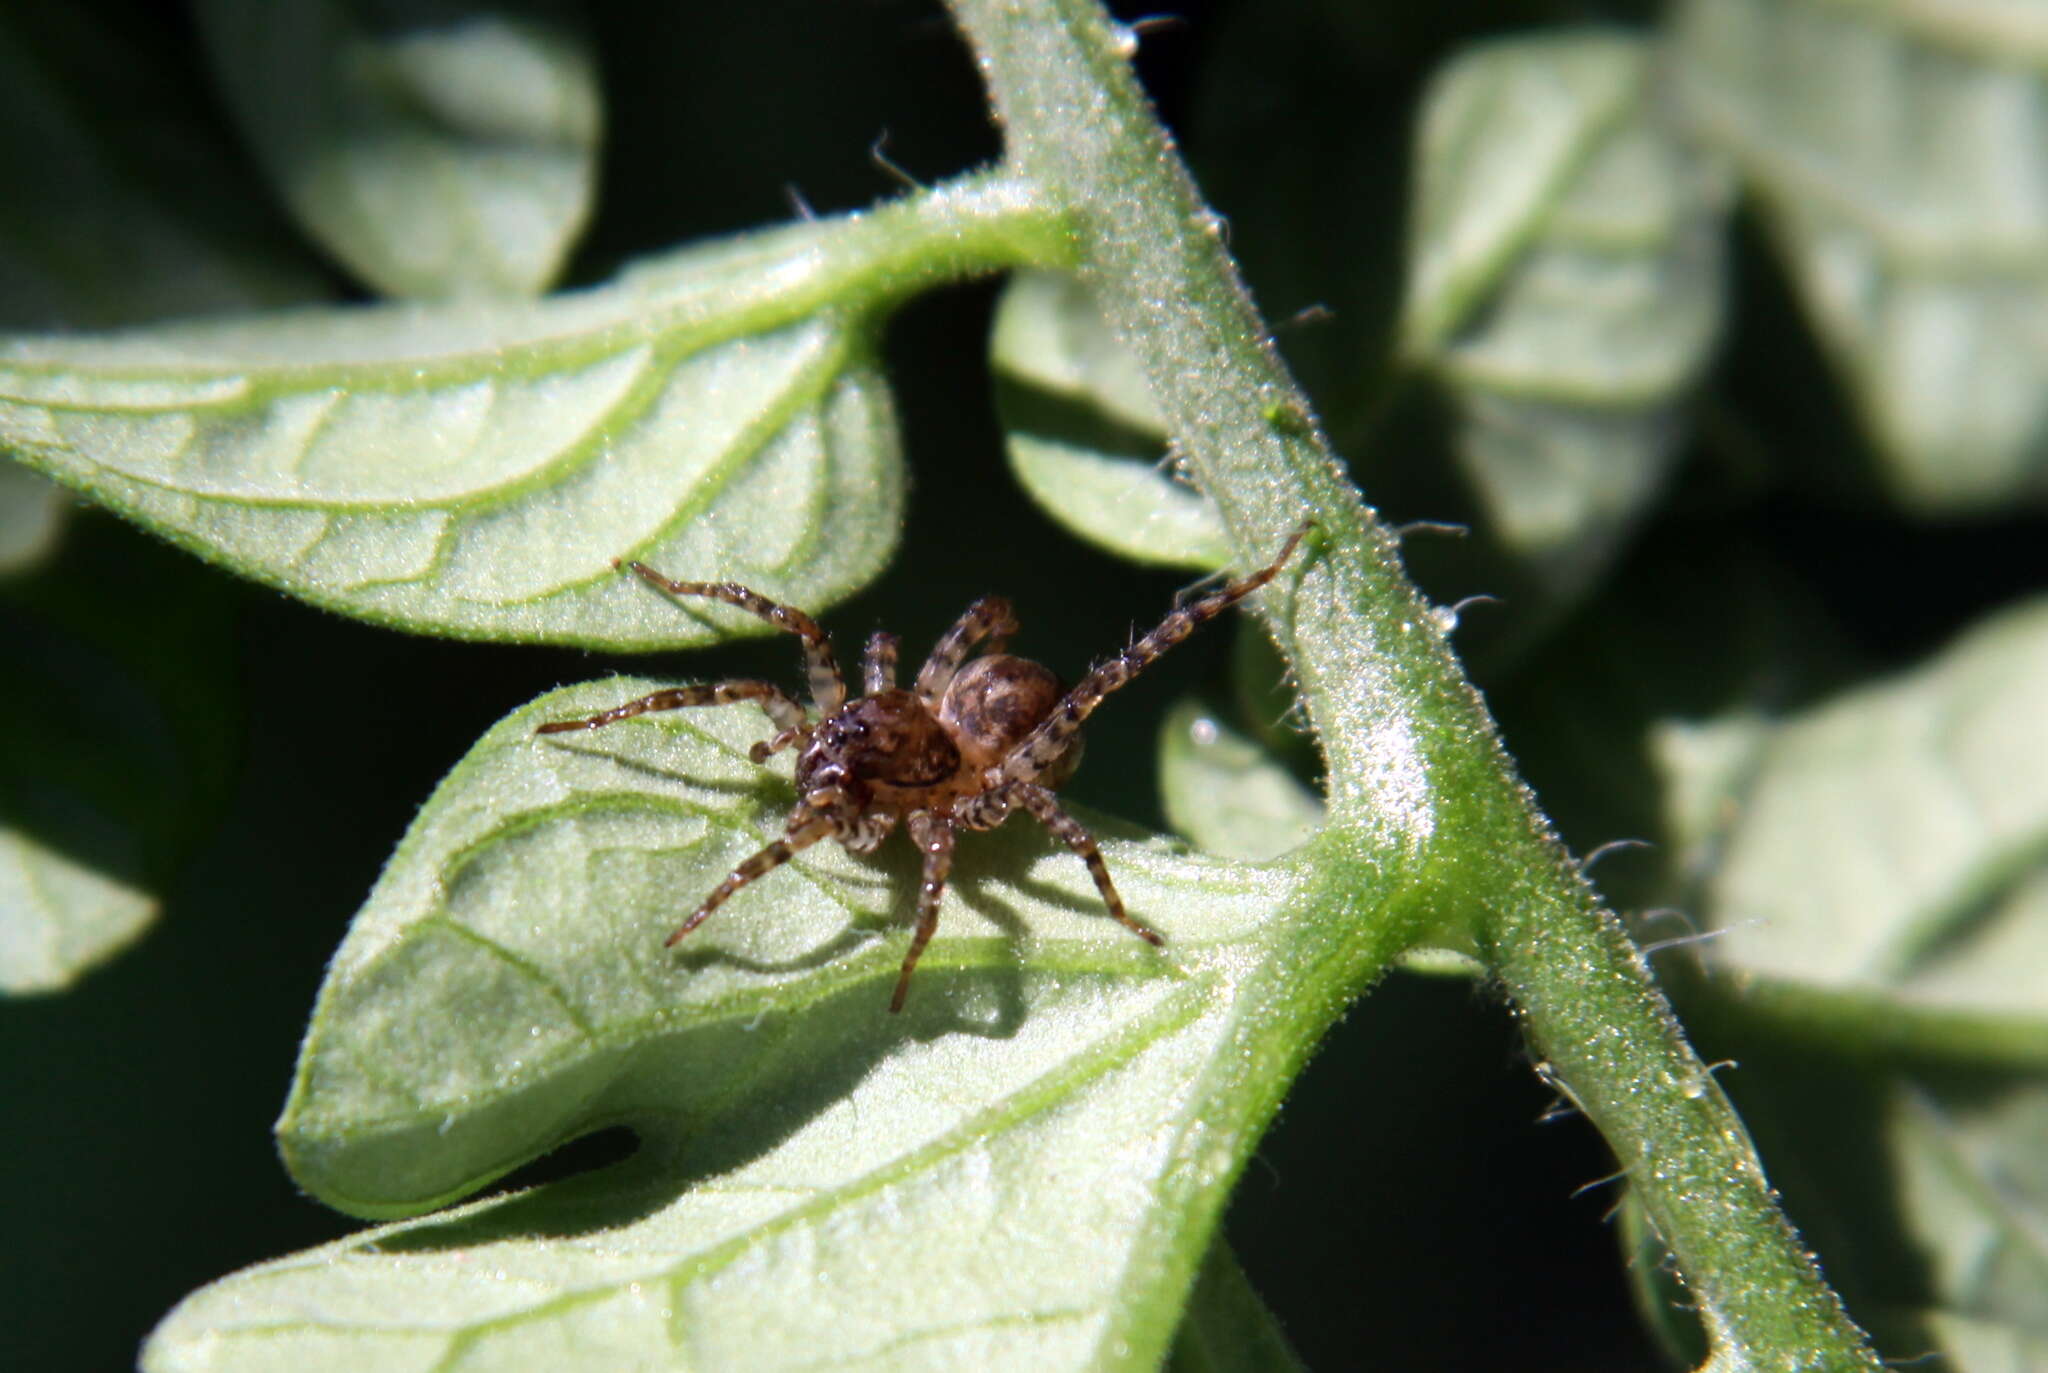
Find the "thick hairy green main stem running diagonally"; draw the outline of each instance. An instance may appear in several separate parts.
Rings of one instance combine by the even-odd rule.
[[[1130,76],[1133,35],[1092,0],[950,4],[1006,127],[1008,164],[1067,211],[1077,273],[1145,365],[1241,561],[1270,557],[1303,512],[1319,525],[1292,602],[1262,607],[1329,764],[1331,822],[1298,861],[1298,900],[1276,934],[1317,957],[1288,959],[1298,982],[1253,980],[1292,1002],[1262,1025],[1247,1012],[1245,1037],[1266,1047],[1257,1062],[1300,1064],[1341,998],[1378,973],[1389,926],[1413,943],[1456,939],[1462,922],[1546,1076],[1628,1170],[1724,1367],[1878,1367],[1634,947],[1520,785],[1393,535],[1317,432],[1223,223]],[[1360,934],[1362,920],[1380,930]]]

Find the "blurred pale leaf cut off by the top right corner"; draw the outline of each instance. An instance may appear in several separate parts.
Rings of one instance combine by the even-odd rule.
[[[1769,211],[1901,504],[2048,492],[2048,31],[2030,6],[1688,0],[1681,109]]]

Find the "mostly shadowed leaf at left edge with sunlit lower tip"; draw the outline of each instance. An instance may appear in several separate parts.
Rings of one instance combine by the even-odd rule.
[[[90,568],[90,576],[86,570]],[[156,918],[233,768],[233,598],[111,521],[0,588],[0,992],[70,986]]]

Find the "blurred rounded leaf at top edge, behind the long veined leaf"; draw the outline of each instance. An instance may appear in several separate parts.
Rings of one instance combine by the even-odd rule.
[[[535,295],[590,217],[596,61],[565,6],[205,0],[229,107],[305,230],[385,295]]]

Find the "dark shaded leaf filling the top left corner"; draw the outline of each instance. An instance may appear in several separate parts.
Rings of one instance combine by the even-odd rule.
[[[106,328],[326,295],[143,8],[0,14],[0,326]]]

